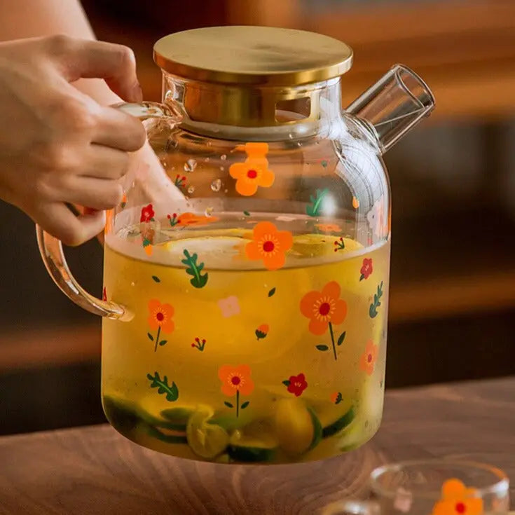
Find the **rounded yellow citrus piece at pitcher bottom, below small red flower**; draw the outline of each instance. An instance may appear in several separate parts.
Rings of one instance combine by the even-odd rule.
[[[275,408],[275,434],[290,456],[310,451],[320,441],[321,425],[301,399],[282,399]]]

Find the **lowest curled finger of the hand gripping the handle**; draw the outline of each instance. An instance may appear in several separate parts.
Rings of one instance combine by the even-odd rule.
[[[42,205],[37,212],[32,213],[32,218],[47,233],[59,238],[64,245],[72,247],[95,238],[106,224],[103,211],[76,217],[62,203]]]

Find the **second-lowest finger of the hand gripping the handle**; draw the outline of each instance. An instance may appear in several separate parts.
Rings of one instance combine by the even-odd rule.
[[[120,204],[123,188],[118,181],[95,177],[69,177],[67,188],[58,200],[92,207],[94,210],[110,210]]]

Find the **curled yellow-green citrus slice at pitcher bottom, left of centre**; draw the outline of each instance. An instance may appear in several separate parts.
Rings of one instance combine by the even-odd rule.
[[[223,427],[210,424],[212,408],[201,406],[191,415],[186,425],[186,438],[191,450],[200,458],[216,458],[226,450],[229,435]]]

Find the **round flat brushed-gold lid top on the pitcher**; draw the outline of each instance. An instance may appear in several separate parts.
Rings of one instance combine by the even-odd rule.
[[[276,27],[205,27],[161,38],[156,64],[194,81],[294,86],[341,76],[352,49],[329,36]]]

